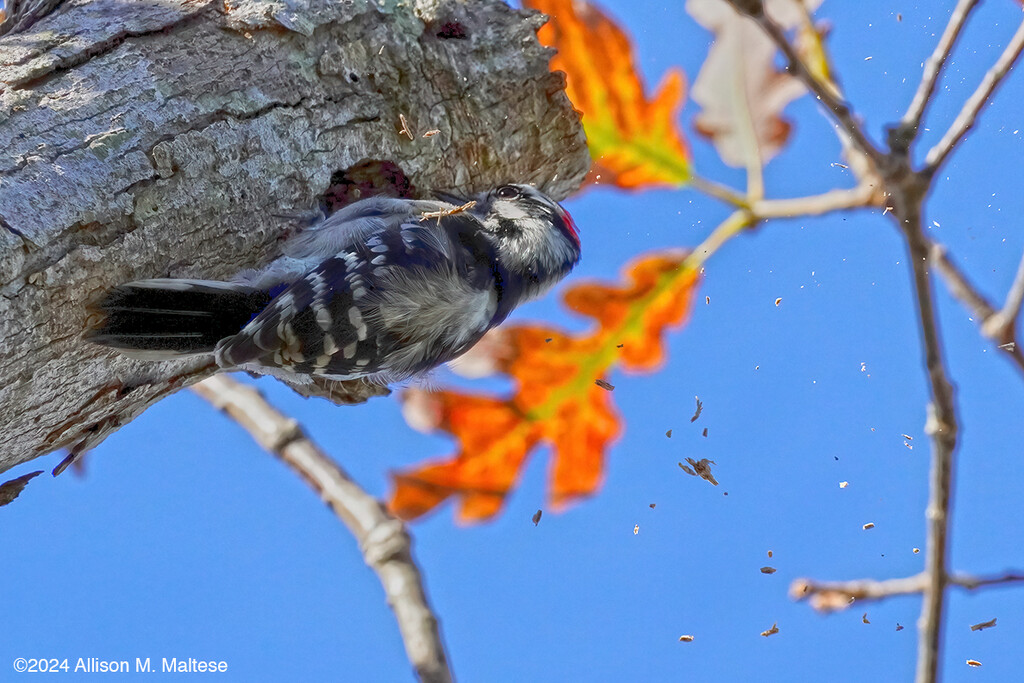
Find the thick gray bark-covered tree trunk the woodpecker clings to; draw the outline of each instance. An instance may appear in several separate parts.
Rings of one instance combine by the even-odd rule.
[[[360,193],[578,187],[541,24],[498,0],[65,0],[0,38],[0,472],[210,373],[82,342],[114,285],[260,265]]]

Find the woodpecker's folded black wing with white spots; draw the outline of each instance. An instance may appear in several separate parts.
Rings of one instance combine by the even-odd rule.
[[[329,256],[222,340],[219,365],[387,382],[455,357],[490,327],[500,287],[474,218],[377,211],[346,224],[344,236],[325,226],[291,252]]]

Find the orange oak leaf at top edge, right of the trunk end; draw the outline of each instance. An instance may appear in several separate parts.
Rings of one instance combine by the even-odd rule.
[[[630,39],[601,10],[584,0],[523,4],[550,16],[538,38],[558,49],[551,68],[565,72],[565,92],[583,115],[591,179],[630,188],[689,181],[690,153],[679,126],[683,72],[670,70],[647,99]]]

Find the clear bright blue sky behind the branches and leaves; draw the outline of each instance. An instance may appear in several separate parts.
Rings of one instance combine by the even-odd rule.
[[[902,20],[890,3],[819,10],[843,87],[876,139],[910,101],[952,4],[900,6]],[[651,86],[672,65],[691,82],[699,69],[710,38],[682,5],[603,3],[636,39]],[[923,150],[1019,19],[1009,1],[976,12],[929,112]],[[926,214],[937,224],[930,236],[996,301],[1024,250],[1022,97],[1015,75],[943,169]],[[689,104],[688,134],[694,114]],[[801,99],[788,114],[794,137],[767,168],[769,196],[849,184],[831,166],[839,146],[814,103]],[[741,186],[739,172],[690,139],[702,175]],[[695,245],[726,215],[692,191],[598,188],[566,206],[584,239],[577,278],[614,279],[625,255]],[[786,596],[798,577],[885,579],[922,567],[924,555],[911,549],[925,546],[927,391],[905,260],[878,213],[775,221],[732,241],[708,264],[665,369],[609,378],[626,432],[597,497],[547,511],[548,454],[538,453],[493,523],[457,527],[451,508],[415,523],[416,557],[456,676],[909,679],[918,599],[821,616]],[[936,291],[963,423],[952,564],[983,573],[1020,567],[1024,382],[941,284]],[[580,325],[557,296],[515,317]],[[389,470],[451,452],[447,440],[408,428],[393,399],[339,409],[269,380],[259,385],[376,495],[386,494]],[[694,395],[703,414],[690,424]],[[676,463],[686,457],[716,461],[721,484],[682,473]],[[535,527],[538,508],[546,514]],[[112,436],[84,478],[40,477],[0,514],[3,680],[14,680],[18,656],[224,659],[220,680],[232,681],[412,680],[380,585],[349,533],[188,391]],[[866,522],[874,528],[865,531]],[[777,572],[762,574],[764,565]],[[1021,590],[952,593],[945,680],[1019,676],[1022,614]],[[992,617],[996,628],[970,631]],[[773,623],[779,633],[760,637]],[[682,634],[695,640],[680,643]],[[968,670],[968,658],[982,668]]]

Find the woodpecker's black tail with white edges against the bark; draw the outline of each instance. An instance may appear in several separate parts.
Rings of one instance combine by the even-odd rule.
[[[152,359],[210,353],[270,302],[245,285],[205,280],[140,280],[112,290],[85,339]]]

